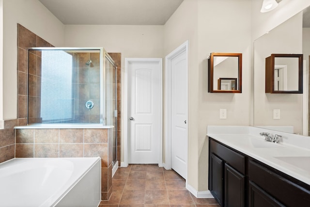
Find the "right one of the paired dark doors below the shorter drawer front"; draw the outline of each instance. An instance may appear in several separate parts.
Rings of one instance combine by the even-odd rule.
[[[225,163],[225,207],[245,206],[245,175]]]

